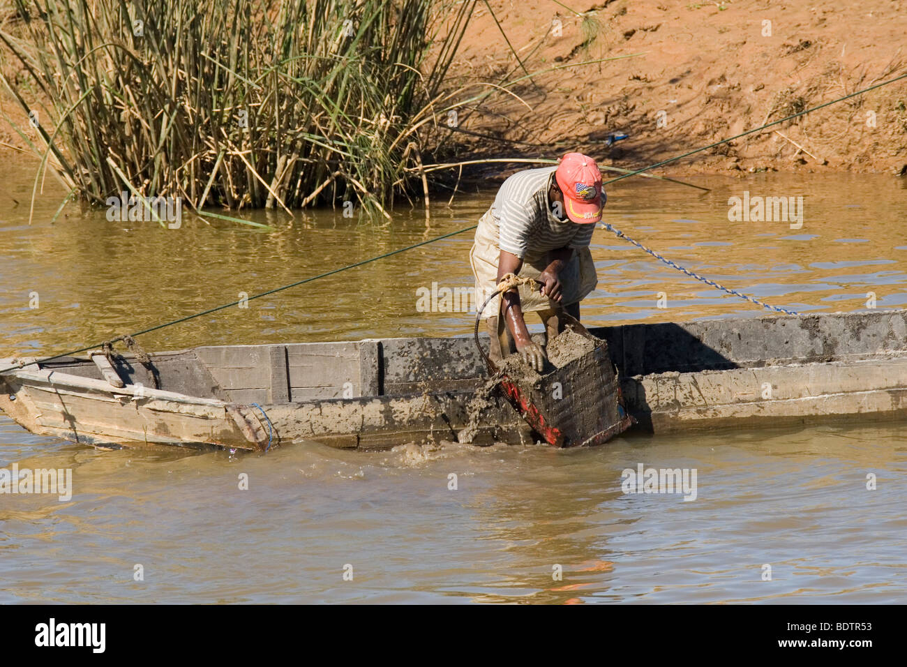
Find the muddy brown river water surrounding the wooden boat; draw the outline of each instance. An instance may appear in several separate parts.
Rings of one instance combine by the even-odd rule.
[[[273,231],[111,222],[34,165],[0,167],[0,357],[47,356],[473,225],[493,191],[395,211],[258,211]],[[690,270],[797,311],[907,304],[907,181],[751,174],[609,187],[606,221]],[[728,198],[803,197],[794,221],[729,221]],[[794,228],[791,225],[794,225]],[[161,329],[148,349],[463,335],[417,306],[469,287],[470,232]],[[587,324],[763,311],[596,231]],[[424,290],[422,290],[424,293]],[[664,308],[659,308],[660,305]],[[30,306],[37,308],[30,308]],[[297,445],[266,456],[102,451],[0,414],[0,468],[70,468],[73,497],[0,495],[0,603],[904,603],[907,438],[854,422],[607,446]],[[696,498],[621,492],[639,465],[697,473]],[[867,476],[876,480],[867,489]],[[454,477],[455,476],[455,477]],[[248,478],[248,489],[240,489]],[[452,488],[455,480],[456,488]],[[770,567],[766,567],[770,566]],[[141,577],[140,577],[141,574]]]

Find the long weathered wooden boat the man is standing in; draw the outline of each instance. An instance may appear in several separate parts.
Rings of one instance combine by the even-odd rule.
[[[907,310],[590,329],[609,344],[633,430],[907,416]],[[0,408],[34,433],[96,446],[381,448],[456,439],[487,373],[471,338],[200,347],[19,359]],[[110,363],[112,361],[112,363]],[[0,368],[13,365],[0,359]],[[504,397],[478,444],[533,437]]]

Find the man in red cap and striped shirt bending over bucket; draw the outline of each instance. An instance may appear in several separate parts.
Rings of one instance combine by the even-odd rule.
[[[563,329],[558,306],[580,318],[580,300],[598,282],[589,242],[605,202],[601,172],[588,155],[569,152],[556,167],[528,169],[503,182],[479,221],[470,263],[480,303],[508,274],[541,281],[505,291],[483,311],[491,357],[519,352],[541,371],[544,351],[532,342],[523,313],[539,313],[548,339]]]

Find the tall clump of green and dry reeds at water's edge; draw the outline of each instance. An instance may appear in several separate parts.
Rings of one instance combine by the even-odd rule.
[[[4,80],[26,112],[47,101],[34,150],[84,201],[386,214],[423,188],[473,4],[15,0],[0,40],[39,93]]]

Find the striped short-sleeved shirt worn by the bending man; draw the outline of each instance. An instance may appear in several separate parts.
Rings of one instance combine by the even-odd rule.
[[[548,203],[557,167],[527,169],[503,182],[492,204],[498,247],[521,260],[535,260],[549,250],[588,248],[593,224],[560,221]]]

